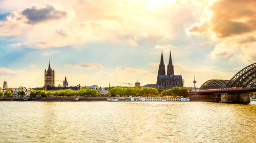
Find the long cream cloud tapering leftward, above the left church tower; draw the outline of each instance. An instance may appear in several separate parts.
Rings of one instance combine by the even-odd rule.
[[[114,20],[79,22],[70,28],[62,27],[47,33],[36,41],[25,43],[28,48],[64,47],[98,40],[117,41],[122,25]]]

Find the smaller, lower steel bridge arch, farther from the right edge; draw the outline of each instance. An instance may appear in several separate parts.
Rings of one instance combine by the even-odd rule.
[[[202,86],[200,87],[200,90],[209,90],[209,89],[226,89],[228,88],[229,80],[223,80],[223,79],[211,79],[206,81]]]

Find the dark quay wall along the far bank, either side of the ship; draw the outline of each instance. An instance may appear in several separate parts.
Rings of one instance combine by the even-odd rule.
[[[27,101],[73,101],[75,98],[30,98]],[[0,101],[22,101],[22,98],[0,98]],[[79,101],[107,101],[107,98],[79,98]],[[215,98],[190,98],[190,101],[219,102]]]

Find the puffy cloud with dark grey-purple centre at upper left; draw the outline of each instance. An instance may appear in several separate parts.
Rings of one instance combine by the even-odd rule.
[[[46,2],[44,6],[30,4],[26,9],[8,14],[6,21],[0,21],[0,35],[9,37],[25,34],[27,37],[31,34],[35,38],[38,36],[38,31],[46,30],[45,27],[48,29],[54,27],[52,22],[65,22],[74,17],[75,12],[71,8],[62,8],[58,4],[50,2]]]

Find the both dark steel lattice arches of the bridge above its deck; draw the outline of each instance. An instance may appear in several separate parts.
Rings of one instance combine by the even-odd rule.
[[[200,87],[200,90],[248,88],[256,85],[256,63],[240,70],[230,80],[211,79]]]

